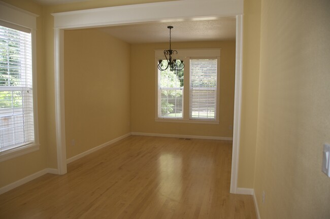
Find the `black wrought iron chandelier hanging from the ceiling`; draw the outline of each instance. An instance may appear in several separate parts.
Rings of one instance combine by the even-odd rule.
[[[168,28],[170,29],[170,49],[164,50],[164,55],[165,55],[167,64],[164,65],[162,63],[163,60],[158,60],[158,69],[166,70],[170,66],[171,71],[182,70],[184,68],[183,60],[173,59],[173,57],[172,57],[173,55],[178,54],[178,51],[171,49],[171,29],[173,28],[173,26],[168,26]]]

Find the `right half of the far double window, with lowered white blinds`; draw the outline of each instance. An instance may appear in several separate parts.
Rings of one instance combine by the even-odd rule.
[[[190,119],[216,119],[217,61],[217,59],[190,59]]]

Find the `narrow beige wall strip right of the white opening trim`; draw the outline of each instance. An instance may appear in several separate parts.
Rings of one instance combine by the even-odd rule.
[[[260,0],[244,1],[241,139],[237,186],[253,188],[258,117]]]

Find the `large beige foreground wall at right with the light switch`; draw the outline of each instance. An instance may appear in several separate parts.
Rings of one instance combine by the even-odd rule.
[[[261,218],[330,218],[330,2],[263,0],[254,189]],[[261,202],[262,191],[266,193]]]

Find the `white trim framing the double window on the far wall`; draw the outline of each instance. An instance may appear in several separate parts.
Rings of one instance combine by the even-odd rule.
[[[200,124],[219,124],[220,110],[220,48],[214,49],[176,49],[178,56],[184,59],[184,90],[183,90],[183,118],[160,118],[158,117],[158,68],[155,64],[155,121],[156,122],[177,122],[177,123],[200,123]],[[163,58],[164,50],[155,50],[155,63]],[[184,58],[183,58],[184,57]],[[189,92],[190,92],[190,59],[217,58],[217,106],[216,119],[190,119],[189,118]]]

